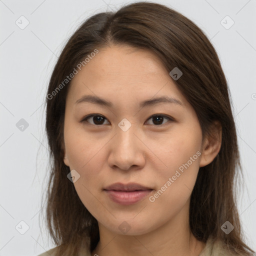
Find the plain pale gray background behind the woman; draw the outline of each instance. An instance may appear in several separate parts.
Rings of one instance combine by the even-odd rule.
[[[245,189],[239,191],[238,210],[246,242],[255,250],[256,0],[155,2],[194,21],[218,53],[231,91],[244,171]],[[40,214],[45,209],[41,200],[47,181],[43,105],[47,82],[61,48],[77,26],[86,17],[116,10],[123,3],[128,1],[0,0],[0,256],[37,255],[54,246]],[[234,21],[228,29],[223,22],[229,26],[230,20],[221,22],[226,15]],[[21,29],[26,20],[29,24]],[[21,118],[27,127],[20,126],[24,125]]]

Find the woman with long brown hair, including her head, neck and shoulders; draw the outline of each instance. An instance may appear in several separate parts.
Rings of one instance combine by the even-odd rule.
[[[47,91],[52,170],[41,255],[252,255],[217,54],[182,14],[137,2],[87,19]]]

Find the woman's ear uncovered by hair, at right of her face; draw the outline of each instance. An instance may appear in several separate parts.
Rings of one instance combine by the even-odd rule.
[[[209,134],[205,134],[202,141],[200,167],[213,161],[221,147],[222,127],[219,121],[214,121],[210,127]]]

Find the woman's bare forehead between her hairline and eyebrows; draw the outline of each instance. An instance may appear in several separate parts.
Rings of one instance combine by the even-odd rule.
[[[161,60],[149,50],[130,46],[98,49],[78,70],[70,86],[68,93],[73,102],[82,94],[116,95],[123,100],[167,94],[184,100]]]

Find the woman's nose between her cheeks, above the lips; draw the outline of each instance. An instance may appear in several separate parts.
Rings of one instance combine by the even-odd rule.
[[[108,165],[111,168],[129,170],[132,168],[143,168],[145,164],[146,146],[139,138],[133,128],[135,125],[123,131],[117,127],[116,135],[110,141],[110,153]]]

